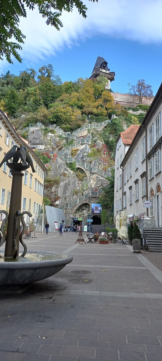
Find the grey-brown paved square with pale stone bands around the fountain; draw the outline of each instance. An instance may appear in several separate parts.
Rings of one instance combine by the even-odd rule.
[[[162,360],[162,272],[121,244],[37,235],[29,251],[71,264],[23,295],[0,296],[0,361]]]

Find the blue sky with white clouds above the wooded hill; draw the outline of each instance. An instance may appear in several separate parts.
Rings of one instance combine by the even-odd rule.
[[[162,4],[159,0],[98,0],[89,4],[88,18],[76,11],[63,13],[63,29],[46,26],[37,9],[20,21],[26,34],[22,64],[5,60],[0,71],[19,74],[25,68],[39,69],[51,63],[62,81],[90,77],[98,56],[115,71],[112,90],[126,93],[127,83],[143,78],[152,85],[154,95],[162,82]],[[113,4],[112,4],[113,3]],[[103,12],[103,8],[105,11]],[[139,12],[140,8],[140,12]],[[110,16],[111,14],[111,16]],[[112,16],[113,14],[113,16]],[[158,21],[159,20],[159,21]]]

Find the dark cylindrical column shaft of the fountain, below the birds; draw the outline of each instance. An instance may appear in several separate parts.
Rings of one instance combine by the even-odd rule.
[[[14,255],[14,230],[15,230],[15,213],[21,210],[21,195],[22,195],[22,177],[23,173],[15,171],[12,173],[12,188],[10,196],[9,218],[7,227],[7,238],[5,244],[5,257],[13,257]],[[18,232],[17,232],[17,256],[19,255],[19,230],[20,219],[18,219]]]

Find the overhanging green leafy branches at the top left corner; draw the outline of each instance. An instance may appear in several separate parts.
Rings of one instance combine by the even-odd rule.
[[[89,0],[95,2],[95,0]],[[98,0],[96,0],[98,1]],[[60,16],[62,11],[71,12],[74,7],[86,18],[86,6],[81,0],[1,0],[0,1],[0,59],[4,56],[13,64],[13,55],[19,62],[22,59],[17,50],[22,50],[25,35],[19,29],[19,19],[26,18],[26,8],[38,7],[39,13],[46,18],[46,24],[54,26],[57,30],[62,27]],[[15,41],[11,41],[12,38]]]

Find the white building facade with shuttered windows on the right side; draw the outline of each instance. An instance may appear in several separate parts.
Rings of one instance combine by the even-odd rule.
[[[161,117],[162,84],[121,162],[122,188],[119,196],[122,198],[122,207],[119,209],[117,206],[119,196],[114,188],[114,218],[125,209],[127,215],[144,214],[154,220],[156,227],[162,227]],[[117,170],[115,183],[116,176]],[[150,200],[150,208],[143,206],[145,200]]]

